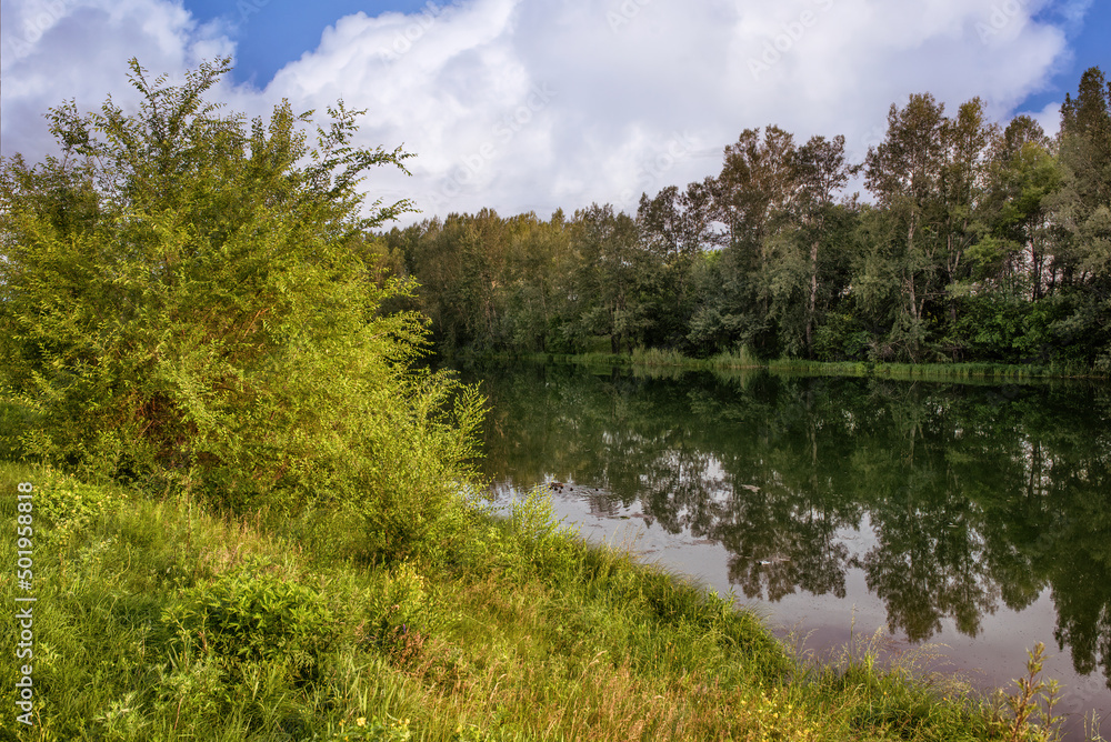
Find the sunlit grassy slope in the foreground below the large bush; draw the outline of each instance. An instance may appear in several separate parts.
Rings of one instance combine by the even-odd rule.
[[[867,646],[814,664],[752,614],[588,545],[533,493],[381,563],[334,513],[221,517],[40,469],[34,725],[11,740],[1020,740],[1044,730]],[[24,508],[26,510],[26,508]],[[0,542],[4,564],[16,540]],[[26,544],[20,548],[26,548]],[[9,571],[9,575],[11,572]],[[17,650],[13,632],[2,651]],[[1017,664],[1022,658],[1015,658]],[[1032,702],[1022,704],[1032,708]]]

